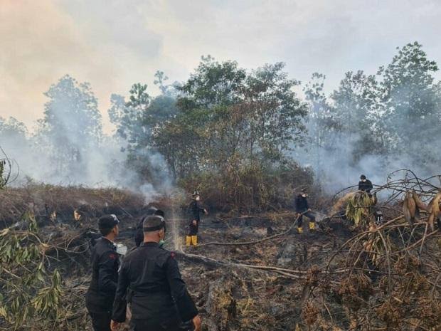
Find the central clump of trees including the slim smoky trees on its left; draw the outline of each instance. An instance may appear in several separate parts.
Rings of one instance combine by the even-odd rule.
[[[267,173],[277,171],[285,152],[305,135],[307,105],[294,93],[299,82],[287,78],[283,68],[275,63],[248,73],[234,61],[218,63],[208,56],[178,88],[176,100],[160,71],[155,84],[163,95],[150,98],[141,84],[132,86],[127,103],[112,95],[110,118],[127,142],[129,166],[156,184],[162,178],[155,175],[158,162],[152,155],[159,152],[183,185],[196,179],[216,187],[223,183],[225,204],[265,209],[271,189],[257,178],[273,181]]]

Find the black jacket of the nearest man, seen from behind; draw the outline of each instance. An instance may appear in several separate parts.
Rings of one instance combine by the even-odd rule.
[[[159,324],[191,320],[198,314],[174,253],[159,247],[158,243],[142,243],[124,257],[112,313],[112,319],[117,322],[124,322],[126,318],[126,293],[127,301],[132,303],[134,320]]]

